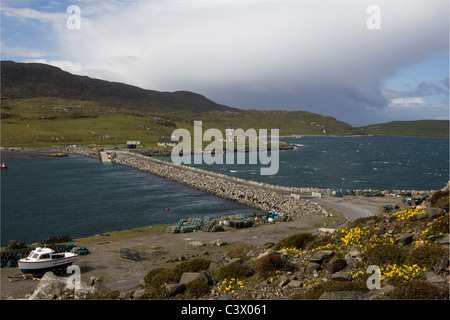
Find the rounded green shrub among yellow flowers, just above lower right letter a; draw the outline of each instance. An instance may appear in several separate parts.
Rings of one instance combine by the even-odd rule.
[[[368,264],[386,266],[389,264],[402,264],[405,261],[407,249],[393,244],[382,244],[369,247],[363,254],[363,259]]]

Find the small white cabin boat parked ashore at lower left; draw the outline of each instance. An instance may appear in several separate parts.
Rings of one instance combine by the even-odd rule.
[[[78,258],[76,253],[55,253],[50,248],[36,248],[28,257],[18,261],[19,269],[23,273],[39,273],[66,267],[74,263]]]

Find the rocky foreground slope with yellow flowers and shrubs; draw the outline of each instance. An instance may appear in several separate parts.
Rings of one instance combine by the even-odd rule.
[[[449,299],[449,241],[446,210],[401,208],[154,268],[134,291],[111,292],[98,279],[73,289],[50,272],[29,299]]]

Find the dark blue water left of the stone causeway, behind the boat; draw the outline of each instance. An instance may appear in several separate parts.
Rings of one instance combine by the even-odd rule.
[[[1,246],[11,239],[31,244],[55,234],[78,238],[181,218],[255,211],[96,159],[10,156],[2,154],[9,167],[1,171]]]

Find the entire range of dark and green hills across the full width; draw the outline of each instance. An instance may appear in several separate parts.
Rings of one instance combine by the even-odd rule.
[[[1,62],[1,145],[156,146],[176,128],[279,129],[290,135],[448,137],[449,121],[395,121],[354,128],[307,111],[239,110],[188,92],[159,92],[72,75],[38,63]],[[270,133],[270,132],[269,132]]]

